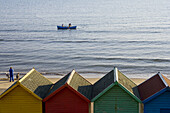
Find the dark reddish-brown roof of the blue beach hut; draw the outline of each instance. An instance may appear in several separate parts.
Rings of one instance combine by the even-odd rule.
[[[155,95],[160,94],[162,91],[164,91],[163,89],[166,89],[169,86],[170,80],[158,72],[156,75],[134,87],[133,91],[136,96],[144,101],[146,99],[151,100],[149,97],[153,95],[155,97]]]

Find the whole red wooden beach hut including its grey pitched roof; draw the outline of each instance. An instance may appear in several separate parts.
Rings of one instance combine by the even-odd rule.
[[[43,100],[45,113],[89,113],[91,83],[75,70],[56,82]]]

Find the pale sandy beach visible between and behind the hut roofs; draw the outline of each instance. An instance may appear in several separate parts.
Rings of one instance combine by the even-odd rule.
[[[48,78],[50,81],[52,81],[53,83],[57,82],[60,78]],[[92,84],[94,84],[97,80],[99,80],[100,78],[86,78],[89,82],[91,82]],[[131,78],[132,81],[134,81],[137,85],[142,83],[144,80],[144,78]],[[16,81],[16,80],[15,80]],[[5,79],[5,78],[1,78],[0,79],[0,94],[3,93],[7,88],[9,88],[14,82],[9,82],[9,80]]]

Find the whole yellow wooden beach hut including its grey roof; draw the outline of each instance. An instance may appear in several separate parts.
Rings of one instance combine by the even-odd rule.
[[[0,113],[42,113],[52,82],[32,69],[0,95]]]

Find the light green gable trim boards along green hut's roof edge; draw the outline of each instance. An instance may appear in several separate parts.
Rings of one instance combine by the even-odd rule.
[[[140,99],[138,99],[135,95],[133,95],[129,90],[127,90],[124,86],[119,84],[117,81],[115,83],[112,83],[110,86],[108,86],[106,89],[104,89],[101,93],[99,93],[95,98],[93,98],[92,102],[96,101],[98,98],[100,98],[102,95],[104,95],[107,91],[109,91],[111,88],[113,88],[116,85],[118,85],[120,88],[122,88],[127,94],[129,94],[137,102],[141,103]]]

